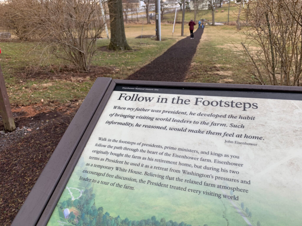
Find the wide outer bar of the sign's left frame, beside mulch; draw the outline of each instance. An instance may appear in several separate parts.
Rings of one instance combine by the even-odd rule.
[[[36,225],[111,81],[97,78],[11,226]]]

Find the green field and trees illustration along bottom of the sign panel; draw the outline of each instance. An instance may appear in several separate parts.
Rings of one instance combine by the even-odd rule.
[[[302,222],[300,202],[280,195],[276,199],[274,191],[254,190],[249,196],[225,193],[234,200],[214,196],[223,194],[217,188],[204,188],[212,195],[197,195],[164,187],[140,187],[135,182],[137,186],[124,182],[116,187],[111,184],[117,184],[117,180],[100,176],[95,182],[87,182],[79,180],[82,176],[82,170],[74,171],[47,226],[281,226]],[[134,189],[129,189],[132,186]]]

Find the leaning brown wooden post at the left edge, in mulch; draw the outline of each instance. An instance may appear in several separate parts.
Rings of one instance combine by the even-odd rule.
[[[11,105],[9,104],[8,95],[5,87],[4,77],[0,65],[0,113],[4,124],[4,129],[13,131],[16,126],[11,112]]]

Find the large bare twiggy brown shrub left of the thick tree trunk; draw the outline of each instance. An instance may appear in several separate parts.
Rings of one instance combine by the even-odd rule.
[[[5,23],[23,40],[35,39],[77,70],[88,71],[104,22],[98,0],[8,0]]]

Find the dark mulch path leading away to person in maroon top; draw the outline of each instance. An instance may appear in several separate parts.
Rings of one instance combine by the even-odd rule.
[[[166,52],[151,63],[140,68],[140,70],[130,75],[127,79],[183,82],[203,30],[202,28],[195,30],[194,39],[190,39],[190,36],[188,36],[176,42]]]

